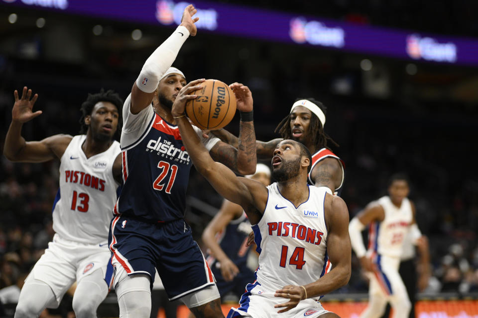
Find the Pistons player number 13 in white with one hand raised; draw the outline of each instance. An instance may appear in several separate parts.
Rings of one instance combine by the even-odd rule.
[[[73,310],[77,318],[97,317],[112,280],[108,229],[121,178],[119,143],[113,138],[121,123],[122,100],[109,90],[90,94],[81,110],[82,133],[54,135],[27,142],[22,125],[39,116],[32,112],[38,95],[15,90],[12,121],[3,154],[11,161],[60,159],[60,188],[53,203],[53,241],[25,280],[15,318],[38,317],[58,307],[76,281]],[[31,98],[31,99],[30,99]]]

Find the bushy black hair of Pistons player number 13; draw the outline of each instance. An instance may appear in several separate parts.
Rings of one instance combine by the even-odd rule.
[[[86,134],[88,131],[88,125],[85,124],[85,117],[90,116],[93,112],[93,108],[95,105],[98,104],[100,101],[107,101],[112,103],[118,109],[119,117],[118,117],[118,128],[116,130],[115,136],[119,137],[121,135],[121,127],[123,125],[123,116],[122,116],[122,107],[123,107],[123,100],[119,97],[119,94],[115,92],[113,89],[101,89],[99,93],[96,94],[88,94],[87,99],[81,104],[81,118],[80,118],[80,134]]]

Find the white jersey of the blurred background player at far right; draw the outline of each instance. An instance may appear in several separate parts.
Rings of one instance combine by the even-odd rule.
[[[390,197],[378,199],[383,207],[385,218],[382,222],[370,224],[368,233],[368,252],[391,257],[400,257],[403,240],[413,220],[410,201],[405,198],[400,207],[395,206]]]

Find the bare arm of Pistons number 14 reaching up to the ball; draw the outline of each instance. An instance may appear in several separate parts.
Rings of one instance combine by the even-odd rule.
[[[252,207],[263,211],[267,201],[267,188],[254,180],[237,177],[227,166],[214,161],[200,142],[198,135],[193,130],[184,113],[186,101],[197,98],[197,95],[192,93],[201,88],[202,81],[204,80],[189,82],[179,91],[173,103],[171,113],[178,124],[184,146],[196,169],[211,183],[220,195],[231,202],[239,204],[246,213],[251,211]],[[251,223],[254,222],[254,220],[250,221]]]

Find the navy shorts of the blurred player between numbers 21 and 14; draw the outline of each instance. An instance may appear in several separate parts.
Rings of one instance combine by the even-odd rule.
[[[247,268],[246,264],[236,264],[239,268],[239,274],[236,275],[232,281],[228,282],[224,279],[223,274],[221,274],[221,268],[214,266],[216,263],[217,261],[211,265],[211,270],[216,279],[216,285],[218,286],[221,298],[231,292],[240,298],[245,292],[245,286],[255,280],[254,272]]]

